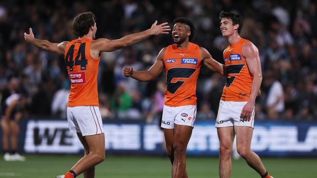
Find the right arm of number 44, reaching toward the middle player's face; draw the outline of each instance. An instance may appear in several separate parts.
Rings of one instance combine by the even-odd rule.
[[[153,35],[168,34],[168,31],[171,30],[170,26],[167,25],[167,22],[159,25],[157,25],[157,23],[158,21],[155,21],[152,27],[148,30],[124,36],[120,39],[108,40],[105,38],[99,38],[92,42],[91,49],[99,52],[111,52],[123,47],[134,45]]]

